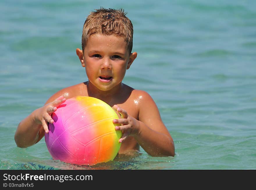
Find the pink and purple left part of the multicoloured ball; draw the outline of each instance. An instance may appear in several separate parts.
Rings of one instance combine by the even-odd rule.
[[[78,101],[69,99],[67,104],[62,104],[51,115],[54,123],[48,125],[49,134],[45,135],[45,141],[54,160],[69,163],[84,162],[85,146],[81,145],[86,141],[84,141],[85,133],[81,133],[81,128],[86,129],[91,123],[90,116],[85,110],[86,107],[82,107]],[[57,115],[61,115],[61,118]],[[93,133],[93,130],[88,131]]]

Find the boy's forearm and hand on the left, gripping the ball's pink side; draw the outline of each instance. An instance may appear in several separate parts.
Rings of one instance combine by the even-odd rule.
[[[47,123],[54,122],[51,118],[51,113],[56,111],[60,104],[65,102],[63,96],[59,96],[53,101],[54,97],[56,95],[49,98],[44,106],[33,111],[19,123],[14,135],[18,147],[26,148],[32,146],[42,139],[45,132],[49,132]]]

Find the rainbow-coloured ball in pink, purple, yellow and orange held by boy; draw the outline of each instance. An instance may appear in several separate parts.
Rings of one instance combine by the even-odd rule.
[[[113,119],[117,113],[100,99],[79,96],[67,99],[52,113],[53,124],[45,133],[47,149],[54,160],[94,165],[113,160],[121,143]]]

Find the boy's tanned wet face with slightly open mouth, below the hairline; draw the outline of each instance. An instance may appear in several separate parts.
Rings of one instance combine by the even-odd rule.
[[[84,48],[82,66],[89,81],[99,90],[119,85],[137,53],[129,54],[123,37],[92,35]]]

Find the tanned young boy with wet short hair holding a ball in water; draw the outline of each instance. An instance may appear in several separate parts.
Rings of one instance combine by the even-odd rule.
[[[133,26],[120,9],[101,8],[87,17],[82,34],[82,50],[76,53],[88,76],[87,82],[64,88],[52,95],[44,106],[22,120],[15,133],[18,147],[39,142],[48,133],[51,114],[66,99],[91,96],[103,100],[116,112],[122,131],[119,154],[139,151],[140,146],[152,156],[174,156],[173,139],[163,124],[159,110],[148,93],[122,83],[125,72],[137,57],[131,53]]]

